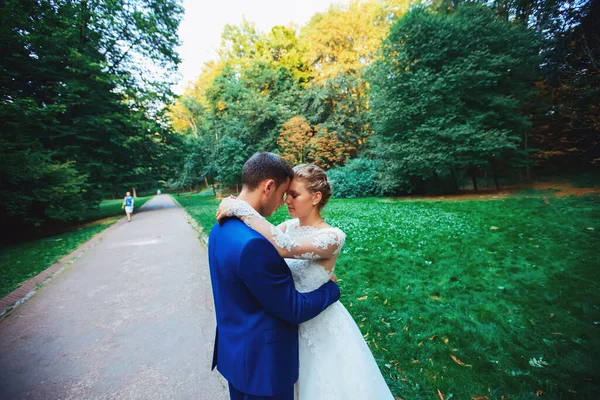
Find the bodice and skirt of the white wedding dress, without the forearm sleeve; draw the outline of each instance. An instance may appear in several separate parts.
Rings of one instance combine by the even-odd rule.
[[[334,233],[331,235],[331,233]],[[286,223],[286,234],[297,240],[312,236],[337,238],[321,241],[336,246],[339,253],[345,238],[337,228],[317,230],[299,226],[298,220]],[[307,255],[309,256],[309,255]],[[331,279],[318,259],[286,258],[299,292],[311,292]],[[375,359],[342,303],[300,325],[300,376],[296,383],[298,400],[393,399]]]

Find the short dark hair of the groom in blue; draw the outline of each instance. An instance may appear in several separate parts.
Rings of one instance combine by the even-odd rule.
[[[242,169],[242,185],[254,190],[266,179],[273,179],[279,187],[291,180],[294,171],[280,156],[268,152],[255,153],[246,161]]]

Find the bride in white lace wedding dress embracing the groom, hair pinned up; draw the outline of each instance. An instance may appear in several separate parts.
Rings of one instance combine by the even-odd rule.
[[[316,165],[298,165],[285,203],[295,219],[272,225],[246,202],[224,199],[217,219],[240,218],[267,238],[284,257],[299,292],[329,281],[346,234],[329,226],[321,210],[331,197],[325,172]],[[299,400],[393,399],[358,326],[338,301],[299,327]]]

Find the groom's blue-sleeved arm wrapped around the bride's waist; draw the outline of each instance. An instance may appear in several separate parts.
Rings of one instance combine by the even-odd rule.
[[[340,289],[329,281],[310,293],[300,293],[273,245],[264,238],[246,244],[239,275],[265,310],[294,325],[319,315],[340,298]]]

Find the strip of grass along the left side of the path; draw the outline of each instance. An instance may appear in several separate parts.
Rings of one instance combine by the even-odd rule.
[[[152,197],[137,198],[136,208]],[[124,215],[122,203],[123,200],[105,200],[97,208],[88,211],[86,224],[74,225],[70,231],[59,235],[0,248],[0,297],[6,296],[117,222]]]

